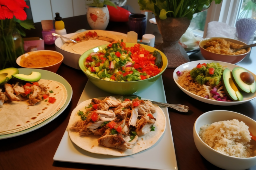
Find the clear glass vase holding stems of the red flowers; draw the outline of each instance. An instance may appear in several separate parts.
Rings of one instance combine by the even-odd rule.
[[[24,54],[23,39],[13,19],[0,20],[0,70],[18,67],[16,59]]]

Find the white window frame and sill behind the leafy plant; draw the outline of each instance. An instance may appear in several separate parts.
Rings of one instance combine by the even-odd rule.
[[[205,21],[204,31],[193,30],[193,33],[199,37],[206,37],[207,26],[211,21],[224,22],[231,27],[235,27],[238,18],[238,10],[241,8],[243,0],[222,0],[220,4],[213,1],[207,9],[207,17]],[[203,35],[203,36],[202,36]]]

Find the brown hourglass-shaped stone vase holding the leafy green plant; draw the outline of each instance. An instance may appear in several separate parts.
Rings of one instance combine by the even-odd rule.
[[[189,57],[184,48],[178,44],[180,37],[189,27],[190,20],[186,17],[160,19],[155,17],[157,27],[163,37],[163,43],[157,48],[162,51],[167,59],[167,68],[177,68],[181,64],[189,62]]]

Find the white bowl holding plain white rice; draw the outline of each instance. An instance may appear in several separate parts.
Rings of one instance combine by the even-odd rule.
[[[243,121],[247,126],[249,126],[249,131],[252,134],[256,134],[256,121],[242,115],[240,113],[231,112],[227,110],[213,110],[210,112],[206,112],[199,116],[193,127],[193,138],[196,145],[196,148],[200,152],[200,154],[211,164],[227,169],[227,170],[243,170],[251,168],[256,165],[256,141],[251,140],[251,145],[254,145],[252,148],[252,157],[251,158],[237,158],[229,155],[225,155],[220,153],[206,143],[199,137],[198,132],[200,131],[200,127],[205,124],[211,124],[214,122],[224,121],[224,120],[233,120],[238,119],[239,121]]]

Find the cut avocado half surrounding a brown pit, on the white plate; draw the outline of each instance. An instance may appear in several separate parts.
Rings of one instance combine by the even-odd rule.
[[[242,72],[248,72],[247,70],[245,70],[242,67],[235,67],[232,70],[232,79],[236,85],[236,87],[241,90],[244,91],[246,93],[254,93],[256,91],[256,82],[254,80],[254,83],[252,83],[251,85],[246,84],[245,82],[242,81],[240,74]],[[249,73],[249,72],[248,72]],[[251,73],[250,73],[251,74]]]

